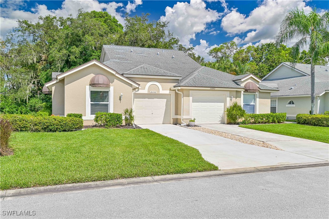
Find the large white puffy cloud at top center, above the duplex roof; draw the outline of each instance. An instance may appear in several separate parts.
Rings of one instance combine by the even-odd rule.
[[[183,45],[190,45],[195,34],[205,31],[207,24],[216,21],[223,13],[206,8],[203,1],[177,2],[172,8],[165,8],[160,20],[169,22],[168,29]]]

